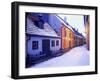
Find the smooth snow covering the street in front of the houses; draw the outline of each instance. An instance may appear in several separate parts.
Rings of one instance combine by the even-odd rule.
[[[59,57],[52,58],[32,67],[62,67],[89,65],[89,51],[86,45],[75,47]]]

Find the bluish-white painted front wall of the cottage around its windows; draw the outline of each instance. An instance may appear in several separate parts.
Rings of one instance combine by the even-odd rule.
[[[40,51],[42,52],[42,40],[43,39],[49,39],[50,40],[50,50],[53,51],[53,52],[57,52],[58,50],[60,50],[61,48],[61,40],[59,38],[46,38],[46,37],[31,37],[30,40],[28,40],[27,42],[27,52],[28,54],[31,54],[31,55],[36,55],[36,54],[39,54]],[[59,45],[58,46],[54,46],[52,47],[51,45],[51,42],[52,40],[59,40]],[[38,41],[38,49],[32,49],[32,41]]]

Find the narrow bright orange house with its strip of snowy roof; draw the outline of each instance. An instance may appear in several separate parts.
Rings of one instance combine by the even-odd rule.
[[[59,16],[61,22],[61,48],[68,50],[74,46],[74,32],[72,27]]]

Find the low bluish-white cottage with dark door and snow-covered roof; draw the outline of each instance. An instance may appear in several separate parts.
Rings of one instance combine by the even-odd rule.
[[[59,53],[61,38],[48,23],[44,22],[43,27],[40,28],[29,17],[26,23],[26,53],[28,55],[40,57]]]

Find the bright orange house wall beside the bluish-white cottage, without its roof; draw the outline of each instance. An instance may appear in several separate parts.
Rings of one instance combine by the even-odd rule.
[[[72,48],[74,46],[74,34],[73,32],[62,24],[61,27],[61,39],[62,49]]]

